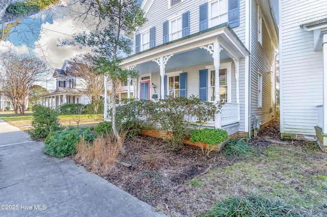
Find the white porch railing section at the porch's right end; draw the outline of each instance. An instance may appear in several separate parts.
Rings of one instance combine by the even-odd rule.
[[[220,110],[220,125],[233,124],[240,121],[238,103],[225,103]]]

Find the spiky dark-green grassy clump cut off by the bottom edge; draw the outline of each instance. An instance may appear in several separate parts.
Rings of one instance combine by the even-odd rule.
[[[226,198],[215,204],[204,216],[298,216],[299,211],[281,200],[268,200],[250,195],[246,198]]]

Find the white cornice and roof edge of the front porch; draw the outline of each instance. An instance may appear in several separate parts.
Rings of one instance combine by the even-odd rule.
[[[219,40],[227,58],[239,60],[249,55],[249,51],[236,33],[232,31],[228,23],[223,23],[213,28],[135,53],[123,59],[122,65],[125,67],[133,66],[145,62],[152,62],[152,60],[162,56],[177,55],[199,49],[200,46],[211,44],[215,39]]]

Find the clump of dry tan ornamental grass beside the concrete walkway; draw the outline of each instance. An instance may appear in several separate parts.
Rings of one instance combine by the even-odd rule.
[[[121,137],[125,139],[126,133],[122,133]],[[112,135],[106,134],[97,135],[93,145],[81,138],[76,149],[74,159],[77,162],[86,166],[92,173],[105,175],[115,170],[114,162],[121,146]]]

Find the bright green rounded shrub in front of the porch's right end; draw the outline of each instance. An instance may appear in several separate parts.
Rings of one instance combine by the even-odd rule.
[[[219,145],[228,139],[228,133],[224,129],[195,129],[191,134],[190,141],[203,142],[208,145]]]

